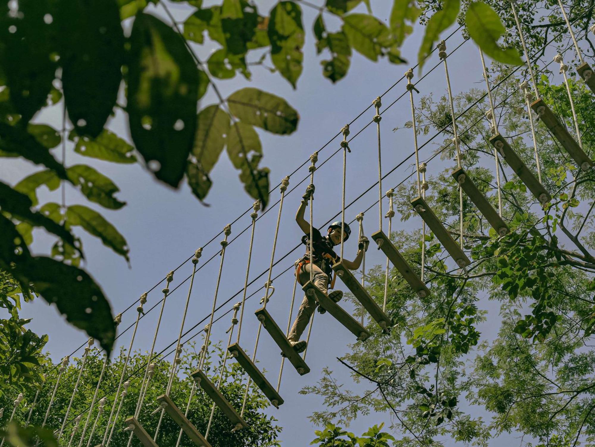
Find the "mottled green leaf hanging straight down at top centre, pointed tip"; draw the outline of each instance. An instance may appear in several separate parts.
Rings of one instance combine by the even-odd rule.
[[[294,2],[279,2],[271,11],[268,22],[271,60],[279,73],[293,88],[302,74],[304,42],[302,9]]]

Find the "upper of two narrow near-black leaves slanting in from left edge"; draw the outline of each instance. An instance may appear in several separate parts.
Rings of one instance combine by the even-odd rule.
[[[44,165],[55,171],[58,177],[66,179],[66,171],[61,163],[43,147],[36,138],[26,133],[21,127],[0,123],[0,149],[5,152],[17,153],[21,157]]]

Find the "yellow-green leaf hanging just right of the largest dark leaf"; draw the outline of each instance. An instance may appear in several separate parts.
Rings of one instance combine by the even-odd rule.
[[[186,176],[192,192],[203,200],[212,185],[209,173],[225,146],[229,133],[229,117],[218,105],[211,105],[203,109],[197,119],[198,130]]]

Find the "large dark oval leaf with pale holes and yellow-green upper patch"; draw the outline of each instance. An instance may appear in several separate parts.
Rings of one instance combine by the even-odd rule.
[[[198,70],[179,34],[139,14],[130,35],[128,105],[136,149],[159,180],[177,187],[196,131]]]

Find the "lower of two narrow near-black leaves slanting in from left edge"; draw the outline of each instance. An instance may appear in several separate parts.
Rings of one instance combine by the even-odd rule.
[[[31,210],[33,203],[25,194],[13,190],[7,184],[0,182],[0,210],[20,221],[33,226],[45,228],[48,232],[57,235],[69,244],[74,245],[74,237],[64,226],[54,222],[41,213]],[[4,235],[3,235],[4,236]]]

